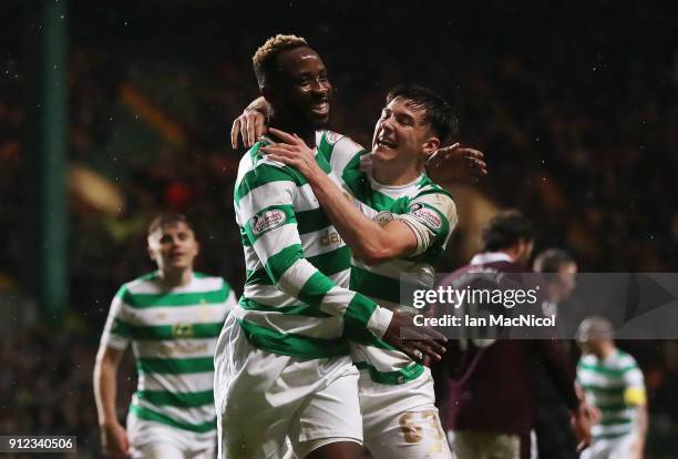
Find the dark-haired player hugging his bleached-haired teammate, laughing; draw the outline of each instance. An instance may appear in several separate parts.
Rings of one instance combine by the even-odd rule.
[[[432,287],[433,264],[456,224],[451,195],[424,173],[424,163],[449,136],[453,122],[450,105],[439,94],[418,85],[396,86],[376,123],[371,152],[348,137],[337,142],[330,175],[341,177],[343,190],[298,137],[271,129],[285,143],[263,149],[271,160],[301,172],[351,247],[350,288],[392,310],[408,310],[401,304],[401,282]],[[412,360],[364,333],[348,330],[347,336],[361,370],[364,446],[372,456],[451,458],[433,379],[421,358]]]

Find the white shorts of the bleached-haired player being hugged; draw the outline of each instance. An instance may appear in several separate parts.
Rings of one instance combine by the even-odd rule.
[[[286,437],[298,457],[321,439],[362,445],[358,370],[349,356],[304,360],[258,349],[233,315],[223,334],[214,386],[219,458],[281,458]]]

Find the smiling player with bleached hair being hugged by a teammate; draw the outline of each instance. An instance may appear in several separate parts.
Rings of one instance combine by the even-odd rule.
[[[332,86],[318,53],[301,38],[276,35],[253,61],[273,106],[271,126],[317,150],[329,172],[341,136],[322,131]],[[407,315],[342,287],[349,248],[299,172],[260,151],[270,143],[265,139],[243,156],[234,193],[248,277],[217,347],[219,456],[279,457],[289,437],[301,458],[357,458],[358,371],[345,326],[409,355],[443,349],[402,340]]]

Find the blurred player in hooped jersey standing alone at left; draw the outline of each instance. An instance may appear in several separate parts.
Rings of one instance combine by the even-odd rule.
[[[199,246],[184,215],[153,220],[147,242],[157,272],[120,288],[96,356],[102,443],[116,458],[213,458],[214,349],[235,294],[223,278],[193,271]],[[130,343],[138,385],[125,431],[115,395],[117,366]]]

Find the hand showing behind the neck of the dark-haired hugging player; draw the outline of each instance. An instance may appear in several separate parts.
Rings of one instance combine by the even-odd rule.
[[[462,147],[461,144],[443,146],[427,161],[427,173],[438,183],[474,183],[487,175],[483,152]]]

